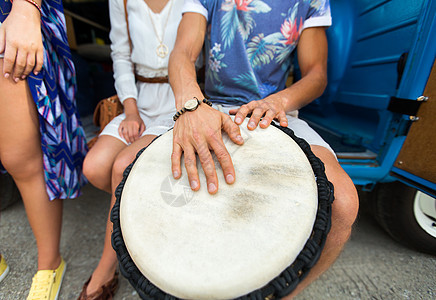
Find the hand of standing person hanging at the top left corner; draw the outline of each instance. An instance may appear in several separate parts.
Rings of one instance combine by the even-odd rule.
[[[32,4],[15,0],[9,16],[0,26],[0,53],[4,53],[3,76],[15,82],[30,72],[36,75],[44,61],[41,16]]]

